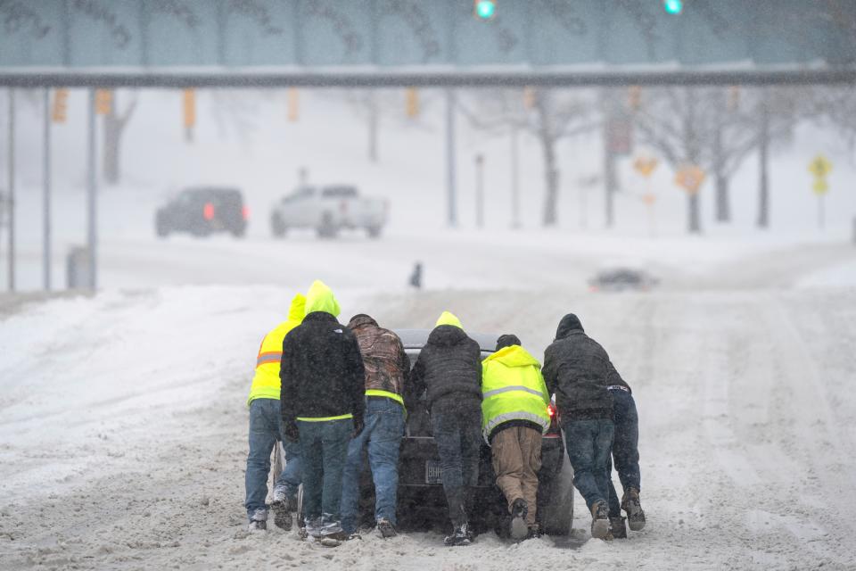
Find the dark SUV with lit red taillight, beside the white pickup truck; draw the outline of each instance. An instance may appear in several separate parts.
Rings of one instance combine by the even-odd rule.
[[[199,186],[186,188],[161,206],[154,225],[161,237],[171,232],[189,232],[193,236],[230,232],[242,237],[247,230],[248,215],[240,190]]]

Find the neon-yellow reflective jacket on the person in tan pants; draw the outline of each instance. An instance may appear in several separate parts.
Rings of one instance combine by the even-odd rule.
[[[493,430],[511,420],[550,426],[547,385],[538,360],[520,345],[504,347],[481,363],[481,431],[489,440]],[[490,441],[489,441],[490,443]]]

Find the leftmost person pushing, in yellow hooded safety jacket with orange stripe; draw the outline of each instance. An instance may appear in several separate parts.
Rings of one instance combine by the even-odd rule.
[[[296,506],[300,486],[300,444],[284,438],[280,415],[279,368],[283,355],[283,340],[303,320],[306,298],[297,294],[288,310],[288,319],[276,326],[261,342],[256,357],[256,374],[252,378],[247,406],[250,408],[250,454],[247,456],[246,490],[247,517],[251,531],[267,529],[268,473],[270,452],[281,441],[285,449],[285,468],[274,485],[274,523],[291,529],[291,509]]]

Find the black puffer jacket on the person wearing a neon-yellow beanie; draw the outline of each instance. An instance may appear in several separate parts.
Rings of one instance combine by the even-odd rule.
[[[428,390],[428,409],[437,401],[462,407],[481,402],[481,348],[460,327],[434,327],[410,373],[411,401]],[[481,421],[481,418],[479,419]]]

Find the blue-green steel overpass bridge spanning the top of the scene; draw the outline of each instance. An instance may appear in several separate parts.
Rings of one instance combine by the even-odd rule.
[[[0,85],[852,83],[853,0],[0,0]]]

